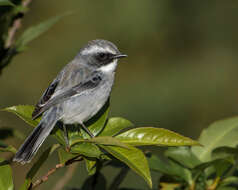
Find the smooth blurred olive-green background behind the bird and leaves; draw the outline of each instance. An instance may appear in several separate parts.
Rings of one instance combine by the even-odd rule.
[[[117,69],[110,115],[198,138],[211,122],[238,114],[237,10],[234,0],[33,1],[22,29],[67,11],[74,14],[34,40],[4,69],[0,106],[35,104],[80,47],[102,38],[128,54]],[[0,113],[3,126],[31,131],[8,113]],[[17,147],[21,143],[10,142]],[[29,165],[14,166],[20,185],[22,168],[25,174]],[[116,175],[112,168],[104,172],[109,181]],[[50,189],[62,175],[64,170],[40,189]],[[79,186],[85,178],[82,166],[68,187]],[[147,189],[141,178],[129,173],[122,186],[135,185]]]

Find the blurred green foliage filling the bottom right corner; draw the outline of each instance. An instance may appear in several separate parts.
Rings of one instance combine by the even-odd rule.
[[[162,189],[236,189],[237,130],[238,117],[218,121],[202,131],[198,142],[203,146],[173,147],[165,151],[164,157],[152,155],[149,165],[162,173]],[[166,183],[168,178],[172,182]],[[171,183],[176,186],[171,187]]]

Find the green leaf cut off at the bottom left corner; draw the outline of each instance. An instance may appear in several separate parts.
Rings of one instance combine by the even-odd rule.
[[[0,158],[0,190],[13,190],[12,170],[9,163]]]

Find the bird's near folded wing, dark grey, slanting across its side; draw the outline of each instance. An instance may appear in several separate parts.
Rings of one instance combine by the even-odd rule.
[[[88,78],[84,82],[74,85],[72,88],[62,92],[61,94],[58,94],[51,99],[48,99],[47,102],[45,104],[42,104],[42,106],[37,110],[36,115],[33,118],[37,118],[39,115],[41,115],[44,111],[48,110],[50,107],[55,106],[59,103],[62,103],[63,101],[69,99],[70,97],[76,94],[81,94],[82,92],[85,92],[85,90],[90,90],[95,88],[101,82],[101,80],[102,80],[101,73],[98,73],[98,72],[94,73],[92,77]],[[52,88],[52,91],[54,91],[53,88]],[[44,98],[44,95],[43,95],[43,98]]]

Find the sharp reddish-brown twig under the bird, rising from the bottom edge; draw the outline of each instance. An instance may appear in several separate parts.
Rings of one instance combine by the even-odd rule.
[[[39,185],[41,185],[42,183],[46,182],[48,180],[49,176],[54,174],[58,169],[63,168],[63,167],[68,166],[68,165],[71,165],[75,162],[80,162],[82,160],[83,160],[82,157],[79,158],[79,156],[77,156],[75,158],[72,158],[71,160],[68,160],[65,163],[57,164],[54,168],[50,169],[44,176],[42,176],[40,179],[36,180],[35,183],[33,183],[29,189],[35,189]],[[67,183],[67,181],[66,181],[66,183]]]

